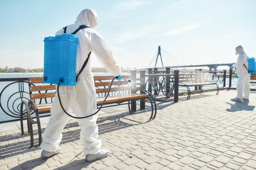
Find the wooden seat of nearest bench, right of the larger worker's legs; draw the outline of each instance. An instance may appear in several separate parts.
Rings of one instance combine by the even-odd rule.
[[[125,94],[122,96],[109,96],[107,97],[107,101],[105,103],[116,103],[119,101],[130,101],[136,100],[140,98],[148,98],[148,94]],[[105,97],[97,98],[97,105],[101,104],[104,101]]]

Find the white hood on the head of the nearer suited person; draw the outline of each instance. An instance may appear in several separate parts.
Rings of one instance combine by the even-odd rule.
[[[75,23],[82,23],[90,28],[97,26],[97,13],[91,8],[85,8],[82,10]]]

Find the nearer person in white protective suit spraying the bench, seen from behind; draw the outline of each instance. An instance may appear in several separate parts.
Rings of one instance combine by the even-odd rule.
[[[80,12],[74,24],[66,28],[66,33],[73,33],[79,26],[85,25],[90,28],[84,28],[75,33],[79,38],[76,74],[80,71],[82,64],[87,59],[89,52],[94,52],[97,60],[114,77],[121,79],[120,68],[112,57],[112,51],[105,40],[94,30],[97,26],[97,14],[94,10],[86,8]],[[63,29],[58,30],[56,35],[63,34]],[[61,102],[68,113],[74,113],[78,117],[91,115],[97,110],[95,85],[92,75],[91,57],[87,66],[78,77],[76,86],[60,86],[59,94]],[[56,94],[53,106],[50,109],[50,120],[43,132],[43,142],[41,149],[43,157],[51,157],[60,153],[60,141],[62,140],[62,131],[68,122],[69,116],[63,112]],[[102,142],[98,139],[98,127],[96,124],[98,115],[92,115],[89,118],[78,119],[80,125],[80,141],[84,146],[83,152],[85,160],[92,162],[110,155],[107,149],[101,149]]]

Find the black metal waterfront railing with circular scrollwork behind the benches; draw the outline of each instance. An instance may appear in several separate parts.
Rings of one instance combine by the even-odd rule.
[[[201,70],[198,70],[201,71]],[[234,84],[233,70],[230,69],[229,73],[225,70],[223,72],[203,72],[205,77],[211,81],[216,81],[218,84],[223,84],[225,87],[228,80],[228,87]],[[195,71],[197,72],[197,71]],[[132,85],[134,91],[137,91],[138,86],[146,89],[156,97],[160,94],[166,98],[174,98],[178,102],[179,96],[179,74],[183,72],[175,70],[171,71],[170,68],[165,70],[148,69],[148,74],[145,71],[136,72],[132,71]],[[21,101],[29,100],[28,90],[28,77],[26,78],[5,78],[0,79],[0,123],[19,120]],[[132,91],[133,92],[133,91]],[[142,92],[142,91],[141,91]],[[42,101],[36,101],[41,103]],[[140,101],[140,108],[144,108],[144,101]],[[136,101],[132,101],[132,110],[136,110]]]

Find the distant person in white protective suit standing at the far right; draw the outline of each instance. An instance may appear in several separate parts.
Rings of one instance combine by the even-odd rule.
[[[232,98],[231,101],[249,101],[250,96],[250,74],[248,73],[247,55],[242,46],[239,45],[235,48],[238,56],[238,61],[233,64],[235,69],[235,77],[238,77],[237,96]]]

